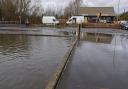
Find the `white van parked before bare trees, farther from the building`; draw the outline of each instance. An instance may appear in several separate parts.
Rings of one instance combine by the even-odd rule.
[[[42,23],[46,25],[57,25],[59,24],[59,21],[55,16],[43,16]]]

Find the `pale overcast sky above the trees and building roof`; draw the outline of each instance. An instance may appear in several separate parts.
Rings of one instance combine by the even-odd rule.
[[[42,6],[44,8],[59,7],[64,8],[71,0],[42,0]],[[115,11],[118,10],[118,1],[119,0],[83,0],[84,4],[87,6],[114,6]],[[128,11],[128,0],[120,0],[120,12],[123,12],[124,9]]]

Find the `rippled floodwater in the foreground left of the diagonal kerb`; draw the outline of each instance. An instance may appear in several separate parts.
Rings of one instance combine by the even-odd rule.
[[[44,89],[71,37],[0,35],[0,89]]]

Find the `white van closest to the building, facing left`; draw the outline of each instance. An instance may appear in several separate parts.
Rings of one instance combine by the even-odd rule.
[[[72,16],[66,23],[67,24],[82,24],[85,22],[84,16]]]

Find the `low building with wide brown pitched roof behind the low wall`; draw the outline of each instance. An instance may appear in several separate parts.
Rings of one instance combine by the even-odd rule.
[[[116,17],[114,7],[80,7],[79,15],[85,22],[112,23]]]

